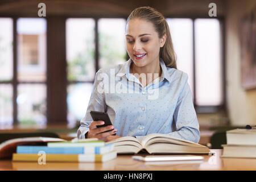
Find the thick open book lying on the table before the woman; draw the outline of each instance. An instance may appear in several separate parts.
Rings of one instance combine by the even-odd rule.
[[[149,134],[141,142],[135,137],[121,137],[107,143],[114,143],[117,154],[212,154],[206,146],[166,134]]]

